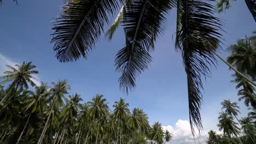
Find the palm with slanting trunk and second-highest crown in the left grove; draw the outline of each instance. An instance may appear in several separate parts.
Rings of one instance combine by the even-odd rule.
[[[57,83],[52,82],[52,84],[53,84],[53,88],[50,89],[51,96],[49,98],[49,99],[53,100],[51,103],[51,110],[50,110],[49,116],[47,118],[47,121],[44,125],[44,129],[42,131],[42,134],[41,134],[37,144],[40,144],[43,140],[43,137],[44,137],[44,134],[45,134],[45,131],[46,131],[47,125],[49,123],[51,113],[53,112],[54,107],[57,107],[58,105],[63,104],[62,99],[65,98],[64,94],[67,94],[68,93],[67,90],[70,89],[70,86],[67,85],[67,80],[63,80],[63,81],[59,80]]]

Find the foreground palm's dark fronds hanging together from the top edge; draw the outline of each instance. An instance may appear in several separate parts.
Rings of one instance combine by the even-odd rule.
[[[194,126],[202,128],[201,76],[210,75],[208,67],[214,65],[215,51],[222,40],[222,22],[214,16],[216,9],[211,2],[213,0],[67,1],[54,24],[51,42],[55,43],[54,51],[61,62],[86,59],[109,17],[120,9],[108,34],[111,39],[118,26],[124,27],[125,46],[117,53],[115,66],[121,73],[120,88],[128,93],[136,87],[138,75],[152,62],[150,52],[158,35],[164,33],[167,14],[177,8],[176,49],[182,53],[187,74],[189,116],[194,134]]]

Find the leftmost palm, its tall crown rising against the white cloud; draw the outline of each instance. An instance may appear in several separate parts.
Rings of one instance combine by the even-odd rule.
[[[28,88],[28,83],[30,85],[36,86],[36,84],[33,82],[33,80],[37,80],[35,77],[33,77],[33,74],[38,74],[37,70],[33,70],[36,68],[36,65],[32,65],[32,62],[23,62],[21,65],[15,64],[17,68],[11,67],[10,65],[6,65],[10,70],[4,71],[4,76],[0,76],[0,79],[4,79],[2,82],[0,82],[0,85],[3,85],[6,82],[11,82],[10,89],[15,87],[17,88]],[[7,95],[9,92],[2,98],[0,105],[2,105],[5,98],[7,98]]]

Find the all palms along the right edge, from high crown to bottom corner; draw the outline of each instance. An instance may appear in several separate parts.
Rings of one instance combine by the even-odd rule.
[[[256,33],[256,32],[254,32]],[[230,55],[227,62],[235,67],[240,73],[249,77],[255,82],[256,76],[256,37],[246,37],[245,39],[237,40],[237,44],[228,47]],[[223,131],[222,135],[218,135],[216,131],[209,131],[208,144],[212,143],[256,143],[256,95],[255,86],[248,82],[245,77],[239,74],[233,74],[235,77],[231,82],[237,83],[237,95],[239,101],[244,100],[245,105],[249,110],[247,117],[237,118],[239,106],[237,103],[231,103],[230,100],[224,100],[222,105],[222,112],[219,113],[219,130]],[[234,121],[238,123],[236,123]],[[237,125],[240,125],[238,128]]]

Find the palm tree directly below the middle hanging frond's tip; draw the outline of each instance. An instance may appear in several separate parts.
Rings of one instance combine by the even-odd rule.
[[[125,103],[125,100],[120,98],[119,101],[115,101],[113,107],[115,108],[113,111],[114,118],[117,119],[118,122],[118,131],[117,131],[117,143],[119,139],[119,144],[121,144],[121,127],[124,126],[125,119],[127,114],[130,113],[128,109],[129,103]]]

